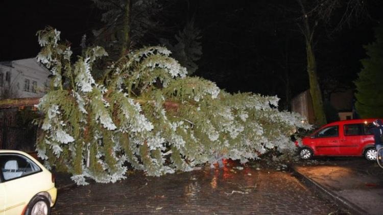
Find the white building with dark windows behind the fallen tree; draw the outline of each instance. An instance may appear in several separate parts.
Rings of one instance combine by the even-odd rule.
[[[42,97],[50,75],[36,58],[0,62],[0,99]]]

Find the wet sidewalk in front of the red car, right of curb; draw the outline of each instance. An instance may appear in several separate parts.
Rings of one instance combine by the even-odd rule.
[[[354,214],[383,214],[383,169],[363,158],[319,160],[295,165],[295,176]]]

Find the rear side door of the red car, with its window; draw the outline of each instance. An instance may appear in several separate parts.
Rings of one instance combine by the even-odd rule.
[[[344,124],[342,128],[343,132],[341,131],[339,155],[361,155],[364,125],[362,123]]]

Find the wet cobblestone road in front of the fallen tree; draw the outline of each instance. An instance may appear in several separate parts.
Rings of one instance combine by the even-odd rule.
[[[328,214],[338,208],[318,198],[290,173],[271,169],[205,168],[147,177],[132,173],[114,184],[91,183],[58,194],[54,214]]]

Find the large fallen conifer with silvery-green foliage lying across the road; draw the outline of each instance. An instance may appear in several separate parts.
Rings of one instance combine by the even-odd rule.
[[[60,79],[38,105],[45,116],[37,151],[78,184],[123,179],[126,162],[151,176],[218,158],[247,162],[270,149],[290,150],[290,136],[310,128],[299,114],[278,111],[276,97],[230,94],[186,77],[164,47],[130,53],[110,65],[104,85],[97,84],[90,71],[105,51],[87,47],[71,63],[70,48],[55,32],[38,33],[38,58]]]

